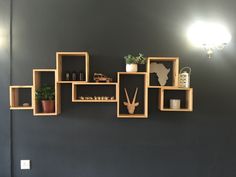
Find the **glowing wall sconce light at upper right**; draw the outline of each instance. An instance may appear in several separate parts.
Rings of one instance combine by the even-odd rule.
[[[196,22],[188,28],[187,35],[193,45],[207,51],[208,58],[231,41],[228,29],[218,23]]]

